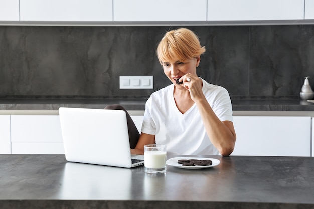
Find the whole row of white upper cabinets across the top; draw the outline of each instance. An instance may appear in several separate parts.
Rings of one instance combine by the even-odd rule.
[[[314,24],[314,0],[0,0],[0,25]]]

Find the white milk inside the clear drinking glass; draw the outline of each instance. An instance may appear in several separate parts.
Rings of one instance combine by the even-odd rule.
[[[166,152],[163,151],[145,151],[144,160],[146,168],[164,168],[166,166]]]

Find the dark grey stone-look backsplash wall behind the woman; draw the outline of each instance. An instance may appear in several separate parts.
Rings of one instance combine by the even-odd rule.
[[[173,27],[0,26],[0,97],[147,98],[170,81],[155,55]],[[207,51],[198,75],[232,97],[298,97],[314,87],[314,26],[193,26]],[[119,89],[152,75],[153,89]]]

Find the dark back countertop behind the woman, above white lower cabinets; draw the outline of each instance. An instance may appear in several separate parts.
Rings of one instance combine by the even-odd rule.
[[[145,110],[143,99],[0,99],[0,110],[58,110],[59,107],[103,109],[121,104],[127,110]],[[231,99],[233,111],[314,111],[314,103],[300,99]]]

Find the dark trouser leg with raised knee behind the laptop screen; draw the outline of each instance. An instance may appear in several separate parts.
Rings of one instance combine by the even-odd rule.
[[[108,105],[105,107],[105,109],[124,110],[124,112],[126,113],[126,121],[127,121],[127,127],[128,127],[128,136],[129,136],[129,141],[130,141],[130,148],[134,149],[137,142],[138,142],[138,139],[139,139],[139,132],[138,132],[131,116],[126,111],[126,109],[121,105]]]

